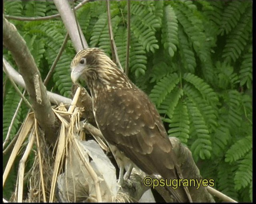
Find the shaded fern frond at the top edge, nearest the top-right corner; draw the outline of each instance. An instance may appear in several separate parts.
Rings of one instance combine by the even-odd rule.
[[[219,29],[220,35],[224,35],[225,32],[228,34],[232,28],[236,27],[241,14],[245,12],[245,9],[249,4],[251,4],[250,1],[241,0],[228,2],[228,6],[225,6],[224,11],[222,12],[222,23]]]

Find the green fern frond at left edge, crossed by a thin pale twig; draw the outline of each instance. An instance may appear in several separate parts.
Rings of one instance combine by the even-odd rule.
[[[5,139],[8,128],[12,121],[12,117],[16,111],[18,103],[20,102],[20,95],[16,92],[16,90],[10,86],[6,97],[4,99],[4,106],[3,106],[3,140]],[[12,130],[10,132],[10,139],[13,138],[14,134],[17,132],[17,128],[19,126],[19,119],[21,116],[21,108],[18,110],[18,114],[14,120]]]

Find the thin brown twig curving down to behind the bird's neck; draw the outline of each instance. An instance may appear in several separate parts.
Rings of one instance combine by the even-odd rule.
[[[116,50],[116,43],[114,41],[113,31],[112,31],[112,24],[111,24],[111,15],[110,15],[110,3],[109,0],[107,0],[107,11],[108,11],[108,32],[110,35],[110,45],[111,45],[111,51],[112,51],[112,58],[114,63],[118,64],[119,68],[124,71],[122,68],[122,65],[119,61],[117,50]]]

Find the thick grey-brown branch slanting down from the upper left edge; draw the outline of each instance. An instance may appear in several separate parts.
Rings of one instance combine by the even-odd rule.
[[[26,90],[30,96],[30,102],[35,111],[35,116],[44,130],[46,139],[50,144],[54,144],[57,138],[57,129],[55,115],[52,111],[50,100],[46,94],[46,87],[42,83],[40,72],[36,63],[26,46],[26,42],[18,33],[16,27],[3,17],[3,44],[8,48],[19,68]],[[36,99],[36,90],[34,78],[38,75],[38,86],[40,89],[41,100],[39,104]]]

